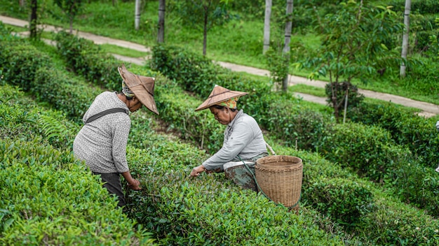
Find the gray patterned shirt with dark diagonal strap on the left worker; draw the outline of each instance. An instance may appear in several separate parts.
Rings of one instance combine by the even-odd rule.
[[[128,107],[117,97],[116,92],[102,92],[83,116],[89,117],[110,108]],[[97,173],[124,173],[129,171],[126,161],[126,145],[131,120],[128,114],[119,112],[104,115],[85,124],[73,143],[74,156],[86,161],[90,170]]]

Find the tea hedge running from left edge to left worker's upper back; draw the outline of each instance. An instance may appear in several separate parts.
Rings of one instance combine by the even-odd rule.
[[[58,69],[48,55],[25,40],[0,40],[0,50],[2,81],[31,92],[71,119],[81,119],[91,101],[102,92],[99,87],[89,89],[85,82]]]

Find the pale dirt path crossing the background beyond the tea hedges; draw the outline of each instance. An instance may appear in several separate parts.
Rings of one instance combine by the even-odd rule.
[[[27,27],[28,22],[25,20],[18,20],[11,17],[1,16],[0,15],[0,21],[4,22],[4,24],[11,24],[18,27]],[[39,28],[44,29],[44,31],[59,31],[60,29],[48,26],[48,25],[41,25]],[[86,38],[90,41],[93,41],[96,44],[111,44],[111,45],[117,45],[119,47],[123,48],[129,48],[132,50],[139,50],[142,52],[150,52],[150,49],[145,47],[144,45],[140,45],[138,43],[132,43],[129,41],[121,41],[114,38],[108,38],[103,36],[97,36],[95,34],[86,33],[83,31],[77,31],[76,34],[80,36],[81,38]],[[52,43],[48,41],[48,43]],[[133,58],[133,57],[124,57],[121,55],[115,55],[116,59],[120,59],[121,61],[130,62],[133,64],[143,65],[145,62],[145,58],[147,57],[140,57],[140,58]],[[223,62],[223,61],[217,61],[217,64],[220,66],[223,66],[224,68],[229,68],[231,71],[239,71],[239,72],[245,72],[255,75],[261,75],[261,76],[268,76],[269,71],[260,69],[260,68],[253,68],[250,66],[243,66],[238,64],[231,64],[229,62]],[[295,84],[306,84],[310,86],[315,87],[325,87],[326,82],[320,81],[320,80],[308,80],[306,78],[298,77],[295,75],[288,75],[288,80],[290,85]],[[434,115],[439,114],[439,106],[435,105],[433,103],[426,103],[423,101],[415,101],[412,99],[407,99],[402,96],[396,96],[392,94],[386,94],[381,92],[372,92],[365,89],[358,89],[358,91],[363,94],[366,97],[372,98],[372,99],[379,99],[382,101],[390,101],[392,103],[400,104],[407,107],[412,108],[419,108],[423,112],[419,113],[419,115],[425,116],[425,117],[432,117]],[[315,103],[320,104],[326,104],[325,98],[318,97],[318,96],[312,96],[309,94],[303,94],[303,93],[297,93],[297,96],[302,97],[305,101],[313,101]]]

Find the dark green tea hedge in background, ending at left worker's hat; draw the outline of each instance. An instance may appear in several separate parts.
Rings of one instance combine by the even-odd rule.
[[[64,57],[69,68],[95,85],[120,90],[122,78],[117,71],[117,67],[121,66],[120,61],[100,50],[92,41],[65,31],[58,32],[55,40],[58,52]]]

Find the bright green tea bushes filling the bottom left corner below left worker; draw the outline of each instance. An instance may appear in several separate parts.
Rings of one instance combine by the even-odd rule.
[[[0,140],[0,152],[2,245],[152,245],[69,152],[38,138]]]

